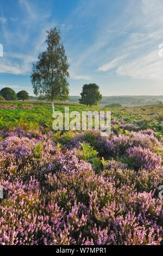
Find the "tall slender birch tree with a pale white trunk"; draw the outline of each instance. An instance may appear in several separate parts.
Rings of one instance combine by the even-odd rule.
[[[34,94],[39,96],[39,99],[52,101],[54,112],[53,101],[68,99],[69,64],[60,30],[57,31],[54,27],[46,32],[47,50],[40,53],[37,62],[33,63],[31,81]]]

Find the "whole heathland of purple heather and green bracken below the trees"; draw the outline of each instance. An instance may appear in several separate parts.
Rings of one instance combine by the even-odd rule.
[[[111,111],[111,134],[52,129],[51,103],[0,102],[0,245],[161,245],[163,105]]]

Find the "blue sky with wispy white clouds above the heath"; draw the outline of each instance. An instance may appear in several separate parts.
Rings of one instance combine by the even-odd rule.
[[[86,83],[103,96],[163,95],[163,0],[0,0],[0,89],[34,95],[32,63],[52,27],[70,64],[70,95]]]

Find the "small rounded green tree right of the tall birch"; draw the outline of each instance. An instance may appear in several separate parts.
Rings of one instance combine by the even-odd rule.
[[[84,84],[82,93],[80,93],[82,99],[79,102],[85,105],[97,105],[102,100],[102,95],[99,92],[99,86],[96,83]]]

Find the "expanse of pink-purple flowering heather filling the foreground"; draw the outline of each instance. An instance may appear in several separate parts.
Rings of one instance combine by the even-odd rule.
[[[162,144],[152,130],[109,138],[78,133],[62,149],[53,132],[0,134],[0,245],[162,244],[163,172],[154,153]],[[114,158],[98,174],[72,150],[89,140],[104,161]]]

